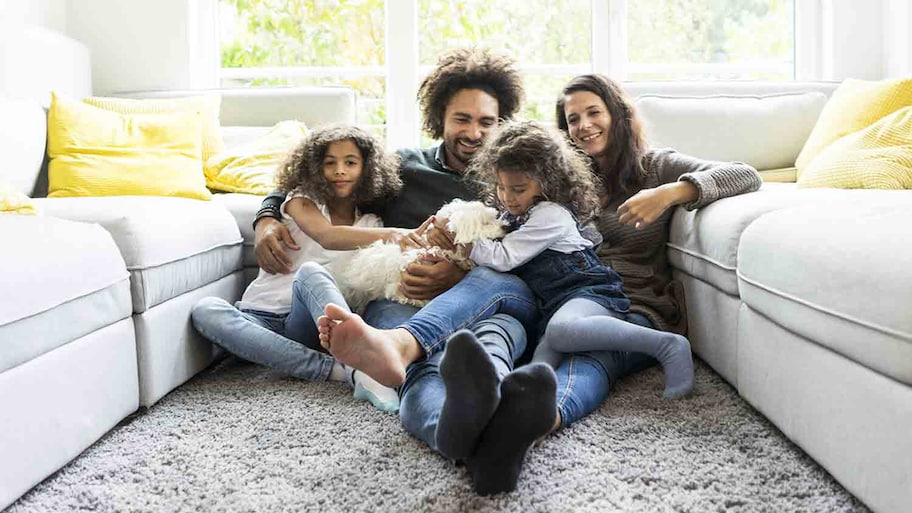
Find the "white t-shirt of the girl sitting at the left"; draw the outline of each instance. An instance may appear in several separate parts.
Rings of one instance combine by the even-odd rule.
[[[317,241],[308,237],[285,211],[285,206],[288,205],[292,198],[307,198],[313,201],[317,208],[320,209],[323,217],[327,220],[330,219],[326,205],[322,205],[299,191],[293,191],[285,198],[281,208],[282,222],[288,228],[288,231],[291,232],[291,236],[298,243],[298,246],[301,247],[297,251],[288,250],[292,269],[297,270],[304,262],[316,262],[326,267],[329,272],[333,272],[334,263],[339,261],[340,257],[350,255],[352,251],[324,249]],[[383,226],[383,222],[374,214],[362,216],[360,212],[355,211],[355,222],[352,226],[378,228]],[[291,311],[291,287],[294,283],[294,276],[294,271],[289,274],[269,274],[260,269],[256,279],[247,286],[247,290],[244,291],[244,295],[241,297],[241,301],[238,302],[237,307],[242,310],[260,310],[276,314],[288,313]]]

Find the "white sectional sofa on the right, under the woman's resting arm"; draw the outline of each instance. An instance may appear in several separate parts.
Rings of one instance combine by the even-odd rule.
[[[656,144],[781,180],[837,85],[627,89]],[[764,183],[679,209],[668,244],[694,352],[875,511],[912,507],[910,220],[912,191]]]

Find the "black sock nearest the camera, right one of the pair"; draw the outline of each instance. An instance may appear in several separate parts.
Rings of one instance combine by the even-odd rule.
[[[481,435],[478,450],[466,460],[475,491],[481,495],[516,488],[529,447],[554,427],[557,377],[547,364],[515,370],[500,384],[500,405]]]

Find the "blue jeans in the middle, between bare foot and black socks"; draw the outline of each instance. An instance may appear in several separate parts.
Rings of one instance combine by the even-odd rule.
[[[379,300],[364,311],[364,320],[371,326],[405,328],[424,348],[426,357],[406,369],[399,389],[399,416],[409,433],[435,451],[437,420],[446,398],[439,371],[446,340],[460,329],[469,329],[503,377],[526,349],[524,325],[534,328],[537,318],[535,298],[525,283],[487,267],[476,267],[420,310]]]

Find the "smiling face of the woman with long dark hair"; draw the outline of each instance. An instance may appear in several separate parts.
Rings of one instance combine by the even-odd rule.
[[[599,95],[589,91],[568,94],[564,118],[573,142],[592,157],[605,155],[611,144],[611,114]]]

